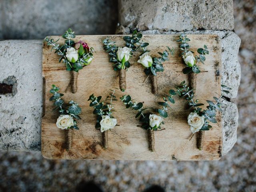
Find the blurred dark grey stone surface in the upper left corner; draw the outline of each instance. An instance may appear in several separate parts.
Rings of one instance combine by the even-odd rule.
[[[0,0],[0,39],[43,39],[76,34],[113,34],[117,23],[115,0]]]

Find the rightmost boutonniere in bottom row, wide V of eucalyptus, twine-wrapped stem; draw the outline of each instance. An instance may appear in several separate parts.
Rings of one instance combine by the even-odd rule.
[[[188,115],[188,125],[190,126],[190,130],[192,132],[192,136],[196,132],[198,132],[198,138],[197,138],[197,147],[199,150],[203,149],[203,139],[204,139],[204,131],[210,130],[212,126],[209,124],[217,123],[217,120],[215,118],[216,112],[222,111],[222,101],[221,99],[225,98],[223,97],[223,93],[229,93],[228,90],[231,90],[231,88],[221,85],[222,86],[222,94],[221,96],[213,97],[214,101],[206,100],[206,102],[209,104],[206,106],[206,109],[202,109],[199,106],[203,106],[204,104],[198,103],[198,99],[194,99],[194,92],[193,89],[190,89],[185,81],[183,81],[180,86],[177,87],[179,92],[181,93],[181,96],[186,99],[188,102],[189,109],[193,109],[192,112]],[[191,136],[191,138],[192,138]],[[190,138],[190,139],[191,139]]]

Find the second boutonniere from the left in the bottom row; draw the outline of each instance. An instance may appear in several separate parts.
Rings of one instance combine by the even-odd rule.
[[[110,91],[112,92],[110,96],[107,96],[106,102],[101,101],[102,96],[96,97],[94,94],[88,99],[91,101],[90,106],[94,108],[93,114],[97,115],[95,128],[102,132],[102,145],[105,149],[108,148],[108,130],[112,130],[117,124],[116,118],[112,115],[114,108],[112,101],[117,100],[114,96],[116,89]]]

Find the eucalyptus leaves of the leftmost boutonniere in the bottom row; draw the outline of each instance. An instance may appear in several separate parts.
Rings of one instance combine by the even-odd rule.
[[[58,92],[59,90],[60,90],[60,88],[56,87],[55,85],[52,85],[52,89],[50,90],[50,93],[53,94],[53,96],[51,96],[51,98],[50,98],[50,101],[54,102],[53,104],[54,104],[54,106],[56,106],[56,108],[54,108],[54,110],[59,109],[58,112],[60,112],[60,115],[68,114],[68,115],[72,116],[73,118],[80,120],[81,118],[80,118],[79,114],[82,111],[81,108],[73,100],[70,100],[69,106],[63,106],[64,100],[62,100],[61,97],[64,96],[64,94],[59,93]],[[76,120],[74,120],[74,125],[70,126],[67,129],[71,129],[71,128],[79,129],[77,126]]]

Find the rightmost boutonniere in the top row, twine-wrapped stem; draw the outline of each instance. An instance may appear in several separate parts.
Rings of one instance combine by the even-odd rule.
[[[184,64],[186,65],[186,68],[183,69],[183,73],[190,74],[190,87],[193,88],[195,92],[196,74],[201,72],[198,64],[204,64],[204,61],[206,60],[204,55],[209,54],[209,51],[207,49],[207,46],[204,45],[204,49],[198,48],[197,52],[199,55],[194,56],[194,52],[189,50],[190,45],[188,42],[190,42],[190,39],[184,33],[180,34],[180,38],[177,40],[177,42],[180,42],[180,50],[182,51],[181,56],[183,58]]]

